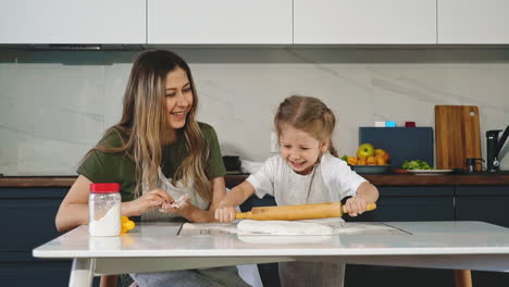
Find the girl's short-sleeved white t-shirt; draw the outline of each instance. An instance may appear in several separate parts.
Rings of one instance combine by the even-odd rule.
[[[278,154],[268,159],[247,180],[259,198],[271,195],[278,205],[339,201],[355,196],[357,188],[367,182],[331,153],[324,153],[308,175],[294,172]]]

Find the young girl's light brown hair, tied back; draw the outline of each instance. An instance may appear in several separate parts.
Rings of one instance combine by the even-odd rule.
[[[305,96],[286,98],[274,116],[277,135],[285,124],[308,133],[319,141],[328,141],[328,152],[338,157],[332,142],[336,116],[321,100]]]

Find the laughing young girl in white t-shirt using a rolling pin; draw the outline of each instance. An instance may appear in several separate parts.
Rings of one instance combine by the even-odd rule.
[[[346,201],[349,215],[365,211],[378,190],[337,158],[331,139],[336,118],[319,99],[286,98],[274,117],[281,154],[233,188],[215,210],[221,222],[235,220],[235,207],[252,194],[271,195],[278,205]],[[345,264],[322,262],[280,263],[282,286],[343,286]]]

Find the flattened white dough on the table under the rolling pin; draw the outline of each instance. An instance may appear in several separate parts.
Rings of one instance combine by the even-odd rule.
[[[320,223],[296,221],[251,221],[244,220],[237,225],[243,234],[274,235],[330,235],[334,228]]]

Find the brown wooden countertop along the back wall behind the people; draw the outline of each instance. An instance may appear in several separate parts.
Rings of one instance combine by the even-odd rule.
[[[509,185],[509,175],[361,175],[375,186]],[[247,176],[246,174],[226,175],[226,186],[236,186]],[[71,187],[75,179],[76,176],[4,176],[0,177],[0,187]]]

